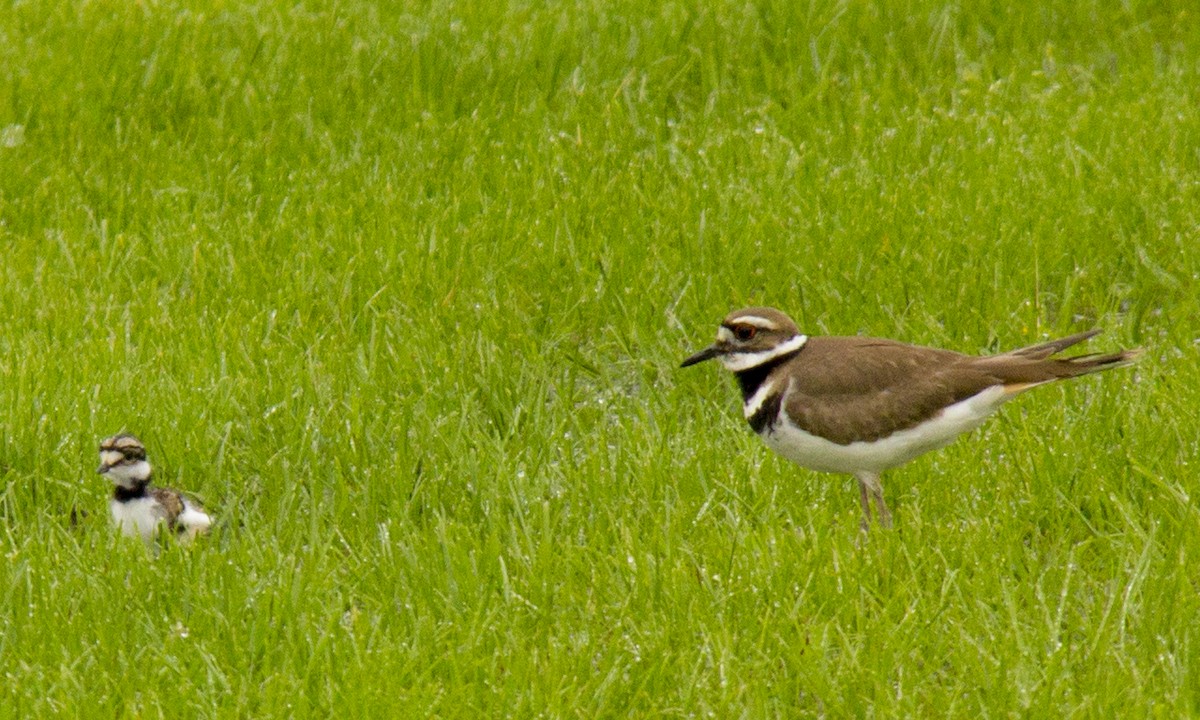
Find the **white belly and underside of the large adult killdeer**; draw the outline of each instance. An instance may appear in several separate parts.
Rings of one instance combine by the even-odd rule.
[[[767,445],[792,462],[823,473],[882,473],[948,445],[958,436],[979,427],[1012,395],[1002,385],[956,402],[932,420],[894,432],[871,443],[839,445],[787,422],[763,433]],[[754,398],[751,398],[752,401]],[[761,402],[761,401],[760,401]]]

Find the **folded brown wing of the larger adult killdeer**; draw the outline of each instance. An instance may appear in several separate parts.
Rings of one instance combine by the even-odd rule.
[[[788,415],[840,445],[876,440],[1003,384],[977,358],[871,337],[811,337],[790,361]]]

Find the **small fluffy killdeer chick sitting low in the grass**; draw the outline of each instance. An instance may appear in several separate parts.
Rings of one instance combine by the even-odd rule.
[[[96,472],[113,481],[113,523],[130,538],[150,542],[166,526],[190,541],[212,524],[212,518],[178,490],[150,484],[145,445],[131,434],[113,436],[100,444]]]

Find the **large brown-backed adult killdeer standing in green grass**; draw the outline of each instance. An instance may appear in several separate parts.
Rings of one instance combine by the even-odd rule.
[[[1130,364],[1141,350],[1051,358],[1099,330],[1001,355],[973,356],[874,337],[809,337],[770,307],[730,313],[716,342],[682,367],[716,358],[742,386],[743,413],[792,462],[858,479],[863,529],[869,498],[892,514],[880,474],[974,430],[1000,406],[1045,383]]]

